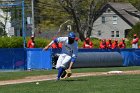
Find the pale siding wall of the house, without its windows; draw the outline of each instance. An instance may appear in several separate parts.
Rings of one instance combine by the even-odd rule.
[[[105,17],[105,23],[102,23],[102,17]],[[114,20],[113,16],[117,18]],[[115,24],[113,22],[116,21]],[[122,18],[116,15],[113,11],[103,13],[93,24],[93,30],[91,37],[96,38],[112,38],[111,31],[114,31],[114,38],[124,38],[125,30],[131,29],[132,27],[128,25]],[[101,31],[101,35],[98,35],[98,32]],[[119,31],[119,37],[116,37],[116,31]]]

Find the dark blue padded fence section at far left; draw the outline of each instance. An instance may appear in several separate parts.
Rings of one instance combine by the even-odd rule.
[[[0,69],[26,69],[26,50],[0,48]]]

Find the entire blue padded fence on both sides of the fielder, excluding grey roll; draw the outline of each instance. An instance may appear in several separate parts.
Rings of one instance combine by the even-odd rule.
[[[60,52],[61,50],[55,49],[42,51],[41,48],[1,48],[0,69],[52,69],[52,55]],[[88,52],[91,54],[95,52],[97,55],[117,52],[117,55],[119,53],[122,57],[120,66],[140,66],[140,49],[79,49],[79,54],[88,54]],[[103,59],[99,57],[97,60]],[[96,64],[98,63],[96,62]]]

